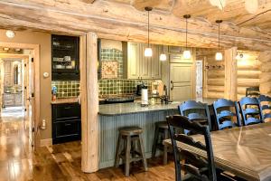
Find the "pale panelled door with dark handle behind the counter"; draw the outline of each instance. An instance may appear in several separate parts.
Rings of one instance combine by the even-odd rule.
[[[170,80],[171,100],[192,99],[192,63],[171,63]]]

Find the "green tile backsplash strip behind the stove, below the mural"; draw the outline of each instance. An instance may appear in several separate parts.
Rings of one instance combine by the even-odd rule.
[[[152,82],[154,80],[144,80],[148,90],[151,90]],[[135,94],[136,85],[140,80],[125,80],[125,79],[112,79],[112,80],[98,80],[98,95],[122,95],[122,94]]]

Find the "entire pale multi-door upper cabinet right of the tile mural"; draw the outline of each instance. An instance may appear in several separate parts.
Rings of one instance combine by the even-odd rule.
[[[127,43],[127,78],[161,79],[160,46],[152,44],[153,56],[145,57],[147,44]]]

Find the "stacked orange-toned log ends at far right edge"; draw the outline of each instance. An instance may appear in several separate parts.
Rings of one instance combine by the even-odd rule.
[[[260,92],[271,96],[271,51],[260,52]]]

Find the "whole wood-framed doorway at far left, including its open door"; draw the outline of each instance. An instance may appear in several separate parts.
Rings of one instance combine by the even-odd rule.
[[[0,43],[1,124],[15,124],[27,133],[29,145],[36,146],[39,107],[39,45]],[[33,58],[37,62],[33,62]],[[39,69],[37,69],[39,70]],[[36,75],[38,76],[34,76]],[[37,92],[37,96],[33,95]]]

